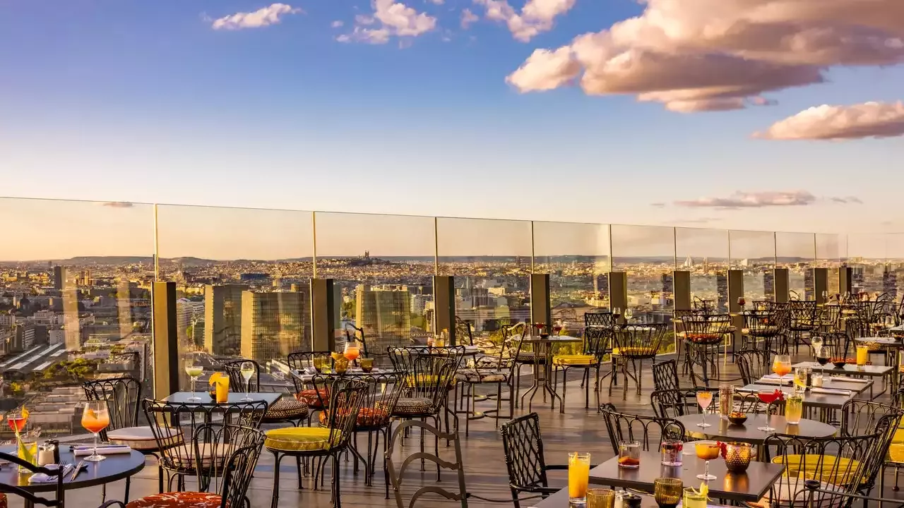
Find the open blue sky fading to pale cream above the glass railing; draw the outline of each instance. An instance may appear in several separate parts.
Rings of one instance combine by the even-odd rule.
[[[356,15],[372,15],[370,2],[287,3],[303,12],[242,30],[214,30],[212,21],[270,4],[0,3],[0,194],[904,230],[895,215],[900,136],[751,137],[814,106],[893,104],[900,66],[824,65],[824,83],[765,92],[771,106],[678,113],[632,93],[589,96],[575,85],[522,93],[506,82],[536,49],[643,14],[632,1],[576,0],[551,30],[522,42],[479,2],[409,0],[436,27],[385,44],[336,40],[353,32]],[[480,17],[468,29],[465,8]],[[737,192],[759,204],[673,204]],[[810,198],[761,206],[760,193]],[[862,203],[831,201],[851,196]]]

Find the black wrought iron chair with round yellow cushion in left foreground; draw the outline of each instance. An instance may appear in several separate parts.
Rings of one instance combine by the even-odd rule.
[[[322,427],[287,427],[268,430],[264,447],[273,454],[273,495],[271,506],[276,508],[279,502],[279,463],[286,456],[296,457],[298,466],[298,488],[302,488],[301,459],[318,459],[314,476],[314,488],[323,477],[326,460],[332,460],[333,503],[336,508],[342,505],[339,478],[339,456],[349,447],[353,437],[354,426],[358,419],[359,409],[367,400],[369,385],[349,378],[324,377],[315,374],[316,385],[326,386],[329,402],[326,404],[327,414]]]

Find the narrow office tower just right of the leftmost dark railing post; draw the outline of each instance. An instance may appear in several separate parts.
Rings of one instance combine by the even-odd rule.
[[[248,286],[204,287],[204,350],[213,356],[241,353],[241,294]]]

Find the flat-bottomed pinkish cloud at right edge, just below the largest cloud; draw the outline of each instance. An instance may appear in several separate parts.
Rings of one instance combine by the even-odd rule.
[[[809,108],[776,122],[764,139],[860,139],[904,136],[904,102],[866,102]]]

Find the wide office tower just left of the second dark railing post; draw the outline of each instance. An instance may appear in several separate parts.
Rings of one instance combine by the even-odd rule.
[[[241,356],[259,363],[310,350],[306,292],[241,294]]]

